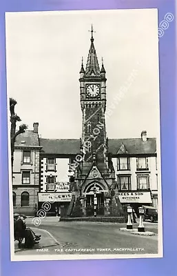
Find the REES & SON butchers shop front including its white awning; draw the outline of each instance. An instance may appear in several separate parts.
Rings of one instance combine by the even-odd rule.
[[[152,206],[152,197],[150,192],[125,192],[118,193],[118,197],[123,205],[123,209],[127,210],[127,206],[132,206],[136,215],[138,215],[138,208],[146,205]]]

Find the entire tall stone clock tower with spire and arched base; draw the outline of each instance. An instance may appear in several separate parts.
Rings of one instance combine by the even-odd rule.
[[[82,61],[80,70],[82,159],[76,167],[73,192],[81,201],[84,215],[93,215],[93,208],[96,208],[98,215],[106,215],[105,206],[114,195],[115,172],[108,154],[105,130],[107,79],[103,60],[101,69],[98,64],[93,28],[91,33],[87,63],[84,68]]]

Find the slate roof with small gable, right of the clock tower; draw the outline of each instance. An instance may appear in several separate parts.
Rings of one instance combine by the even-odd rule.
[[[121,152],[120,148],[125,148],[126,152]],[[116,154],[154,154],[156,153],[156,138],[147,138],[143,141],[141,138],[127,139],[109,139],[108,150],[112,155]]]

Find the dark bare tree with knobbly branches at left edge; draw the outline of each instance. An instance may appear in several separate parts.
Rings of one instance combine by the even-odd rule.
[[[11,142],[11,167],[13,172],[13,164],[14,164],[14,143],[16,137],[25,132],[25,130],[28,128],[25,124],[22,124],[19,126],[19,130],[16,131],[17,121],[21,121],[20,117],[14,112],[14,106],[16,106],[17,101],[15,99],[10,98],[10,142]]]

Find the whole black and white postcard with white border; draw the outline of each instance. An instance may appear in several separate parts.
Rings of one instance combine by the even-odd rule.
[[[163,257],[158,10],[6,12],[12,261]]]

